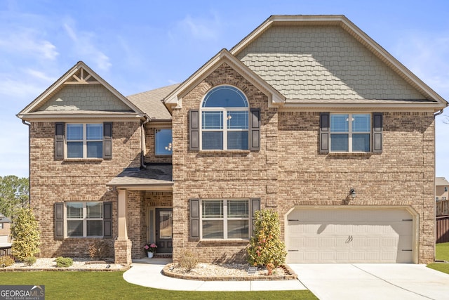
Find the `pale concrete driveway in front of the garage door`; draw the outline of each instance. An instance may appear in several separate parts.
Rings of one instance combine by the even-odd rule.
[[[408,263],[288,263],[319,299],[449,299],[449,275]]]

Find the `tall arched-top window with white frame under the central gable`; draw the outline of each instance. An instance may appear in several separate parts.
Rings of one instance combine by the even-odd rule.
[[[217,86],[200,108],[202,150],[248,150],[249,105],[234,86]]]

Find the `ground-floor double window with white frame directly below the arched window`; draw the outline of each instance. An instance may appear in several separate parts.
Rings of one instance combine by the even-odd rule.
[[[249,200],[203,200],[203,239],[248,239]]]

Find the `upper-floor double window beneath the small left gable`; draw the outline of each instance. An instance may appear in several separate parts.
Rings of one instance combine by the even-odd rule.
[[[67,158],[101,158],[103,124],[67,124]]]

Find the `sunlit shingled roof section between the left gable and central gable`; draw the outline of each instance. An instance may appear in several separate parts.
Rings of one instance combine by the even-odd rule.
[[[145,112],[152,121],[156,120],[170,120],[171,115],[168,112],[166,105],[163,104],[163,98],[166,98],[173,90],[180,84],[173,84],[171,86],[164,86],[152,91],[143,93],[136,93],[128,96],[128,100],[134,103],[137,107]]]

